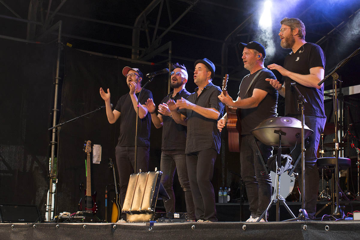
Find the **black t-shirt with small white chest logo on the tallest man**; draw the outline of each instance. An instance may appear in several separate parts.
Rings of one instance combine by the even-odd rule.
[[[325,54],[320,46],[307,42],[300,47],[296,53],[288,54],[285,57],[284,68],[288,71],[303,75],[310,74],[310,68],[325,68]],[[301,109],[297,110],[298,93],[289,77],[283,77],[285,83],[285,115],[301,114]],[[321,89],[306,87],[296,83],[297,88],[305,97],[307,103],[304,104],[304,114],[306,116],[326,117],[324,112],[324,85]]]

